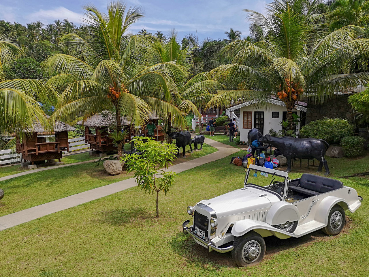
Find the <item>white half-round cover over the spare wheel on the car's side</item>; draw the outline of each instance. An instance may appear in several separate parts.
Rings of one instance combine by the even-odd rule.
[[[273,204],[266,215],[265,222],[275,226],[286,223],[287,221],[297,221],[299,218],[300,213],[296,206],[283,201]]]

